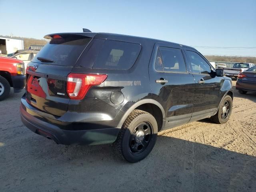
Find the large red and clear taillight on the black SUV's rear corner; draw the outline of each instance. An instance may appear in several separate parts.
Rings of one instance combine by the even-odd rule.
[[[100,85],[107,75],[100,74],[68,74],[67,93],[70,99],[81,100],[94,85]]]

